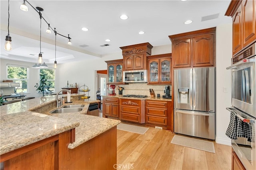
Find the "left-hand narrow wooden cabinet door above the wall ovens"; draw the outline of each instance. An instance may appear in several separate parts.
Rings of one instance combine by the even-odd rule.
[[[242,4],[236,10],[233,19],[233,54],[242,49]]]

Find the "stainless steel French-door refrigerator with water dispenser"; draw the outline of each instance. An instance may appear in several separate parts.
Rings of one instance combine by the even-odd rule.
[[[174,132],[215,140],[215,67],[174,70]]]

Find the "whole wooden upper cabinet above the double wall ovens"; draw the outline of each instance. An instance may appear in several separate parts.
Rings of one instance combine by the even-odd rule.
[[[256,0],[232,0],[226,11],[232,17],[233,55],[256,41]]]

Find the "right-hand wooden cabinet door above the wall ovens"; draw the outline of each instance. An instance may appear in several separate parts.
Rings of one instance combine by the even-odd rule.
[[[243,0],[243,47],[256,40],[256,1]]]

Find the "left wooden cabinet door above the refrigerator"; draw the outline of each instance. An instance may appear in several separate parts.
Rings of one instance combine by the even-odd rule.
[[[190,39],[175,40],[173,42],[172,63],[174,68],[191,66],[190,44]]]

